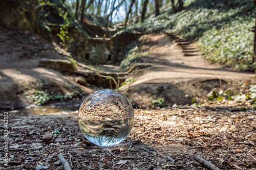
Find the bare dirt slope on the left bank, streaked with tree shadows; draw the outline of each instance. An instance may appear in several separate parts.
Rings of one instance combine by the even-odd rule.
[[[20,109],[29,100],[23,93],[38,85],[59,92],[78,88],[90,94],[93,90],[76,84],[58,71],[39,67],[40,58],[66,59],[54,45],[35,33],[0,28],[0,110]]]

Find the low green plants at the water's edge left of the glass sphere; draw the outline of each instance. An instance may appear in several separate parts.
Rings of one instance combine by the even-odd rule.
[[[37,105],[43,105],[49,102],[56,102],[56,101],[67,101],[72,98],[76,98],[77,96],[82,96],[83,92],[80,92],[79,90],[73,90],[72,92],[67,92],[65,94],[60,94],[56,92],[46,92],[43,90],[36,90],[33,89],[31,91],[31,94],[24,93],[27,99],[30,99],[32,102],[34,102]]]

